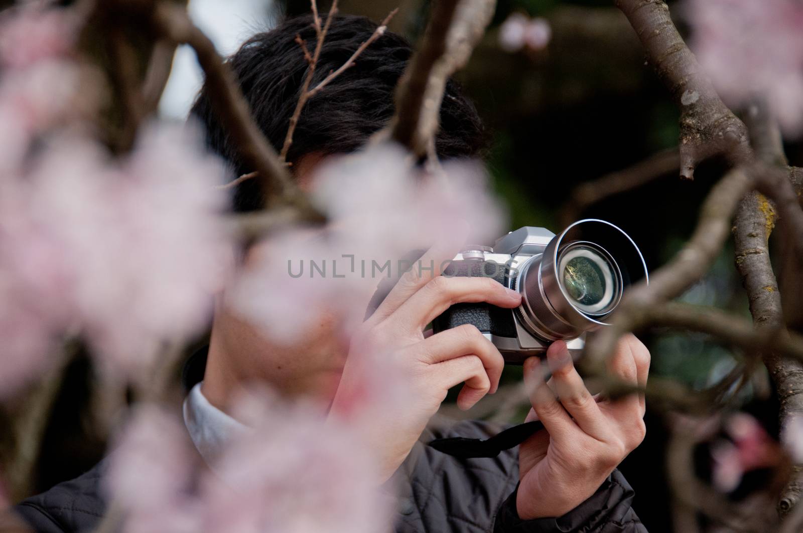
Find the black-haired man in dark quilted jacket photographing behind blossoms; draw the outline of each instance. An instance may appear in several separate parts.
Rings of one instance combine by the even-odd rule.
[[[296,34],[312,42],[311,22],[309,17],[283,22],[250,39],[230,59],[255,120],[277,148],[307,71]],[[375,29],[365,18],[338,16],[328,31],[316,78],[340,67]],[[321,160],[353,152],[387,123],[393,115],[393,91],[410,54],[410,45],[388,32],[309,101],[287,157],[302,187],[310,186],[310,173]],[[251,172],[218,123],[206,88],[193,114],[205,125],[210,148],[230,163],[233,175]],[[448,83],[436,140],[439,157],[477,157],[482,148],[475,109],[454,82]],[[245,181],[234,193],[235,210],[261,204],[258,181]],[[260,246],[247,250],[243,267],[251,264]],[[440,264],[445,255],[430,249],[422,261]],[[255,380],[286,397],[317,397],[338,409],[342,391],[356,379],[349,346],[392,353],[414,371],[408,374],[415,376],[412,385],[418,391],[376,421],[381,438],[371,443],[382,458],[383,479],[393,477],[401,486],[396,531],[645,531],[630,508],[633,490],[615,470],[644,437],[644,399],[634,395],[595,401],[563,342],[548,350],[548,385],[535,358],[524,365],[524,380],[534,391],[528,419],[537,417],[546,429],[520,450],[493,459],[460,460],[422,444],[434,437],[488,437],[497,430],[477,421],[446,430],[426,427],[454,385],[464,384],[458,398],[463,408],[498,385],[502,356],[479,330],[463,326],[428,338],[423,334],[426,324],[451,304],[480,301],[516,307],[520,296],[489,279],[408,273],[350,344],[341,340],[339,317],[331,315],[287,348],[272,344],[221,299],[208,350],[185,368],[191,388],[184,405],[190,436],[200,454],[210,458],[230,433],[247,430],[226,413],[238,391]],[[646,348],[630,336],[618,345],[609,369],[622,380],[644,384],[649,362]],[[91,531],[105,509],[100,470],[29,498],[17,510],[37,531]]]

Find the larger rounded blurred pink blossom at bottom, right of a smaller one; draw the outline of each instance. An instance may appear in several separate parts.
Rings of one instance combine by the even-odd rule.
[[[232,443],[206,478],[209,531],[373,533],[389,526],[391,498],[357,433],[314,405],[249,402],[253,433]]]

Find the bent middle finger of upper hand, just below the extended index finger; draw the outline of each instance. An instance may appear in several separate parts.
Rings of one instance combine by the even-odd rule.
[[[491,393],[499,388],[499,377],[502,376],[504,359],[494,344],[482,332],[471,324],[447,329],[422,340],[421,346],[410,349],[418,350],[426,357],[429,364],[437,364],[455,357],[474,355],[483,362],[483,368],[491,380]]]

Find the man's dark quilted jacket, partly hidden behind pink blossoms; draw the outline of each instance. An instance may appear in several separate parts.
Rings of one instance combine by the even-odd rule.
[[[185,367],[188,389],[203,379],[204,363],[193,357]],[[394,475],[399,494],[397,533],[646,533],[630,507],[633,489],[618,470],[596,494],[566,515],[525,521],[516,513],[517,447],[497,458],[459,459],[425,444],[436,437],[487,438],[500,429],[486,422],[461,421],[422,434]],[[103,469],[100,462],[79,478],[28,498],[15,509],[40,533],[88,533],[106,508],[100,484]]]

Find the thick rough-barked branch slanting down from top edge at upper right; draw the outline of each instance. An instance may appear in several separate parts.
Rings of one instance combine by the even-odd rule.
[[[681,177],[691,179],[700,161],[725,154],[734,165],[748,161],[748,133],[717,96],[683,42],[662,0],[617,0],[641,40],[648,61],[680,108]]]

